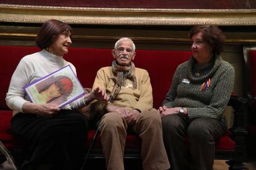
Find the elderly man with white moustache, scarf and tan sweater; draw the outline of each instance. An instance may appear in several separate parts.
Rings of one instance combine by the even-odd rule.
[[[161,118],[152,108],[152,87],[148,72],[136,68],[135,45],[129,38],[119,39],[112,51],[111,67],[98,70],[93,89],[100,87],[109,95],[109,103],[101,105],[105,115],[101,119],[101,144],[110,169],[124,169],[124,147],[127,129],[142,139],[143,169],[168,169],[164,149]]]

